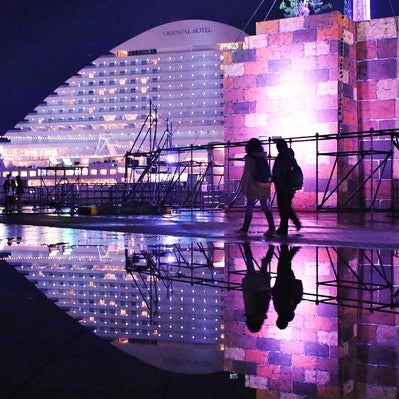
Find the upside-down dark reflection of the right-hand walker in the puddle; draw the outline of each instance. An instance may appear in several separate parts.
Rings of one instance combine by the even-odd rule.
[[[283,330],[295,317],[295,308],[302,300],[302,281],[295,278],[291,262],[299,247],[288,249],[281,245],[277,265],[276,282],[272,288],[274,309],[277,312],[276,325]]]

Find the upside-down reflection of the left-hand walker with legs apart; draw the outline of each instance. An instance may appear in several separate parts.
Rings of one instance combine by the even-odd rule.
[[[271,298],[270,273],[267,266],[274,254],[274,246],[269,245],[266,256],[262,259],[261,267],[255,270],[251,247],[244,243],[244,260],[247,273],[242,280],[245,323],[251,332],[258,332],[267,318]]]

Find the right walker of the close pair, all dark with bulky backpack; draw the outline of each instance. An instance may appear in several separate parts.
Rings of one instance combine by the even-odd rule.
[[[299,187],[293,187],[290,183],[291,172],[298,164],[295,160],[294,151],[288,147],[285,140],[276,140],[276,148],[278,155],[273,164],[273,183],[276,189],[277,208],[280,215],[280,226],[276,230],[276,234],[286,237],[288,235],[288,221],[290,219],[298,231],[302,228],[302,224],[292,208],[295,190]]]

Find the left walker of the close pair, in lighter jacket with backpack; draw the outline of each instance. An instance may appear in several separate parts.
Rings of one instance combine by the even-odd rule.
[[[262,143],[252,138],[245,146],[245,165],[241,179],[242,193],[246,196],[246,208],[243,225],[235,232],[241,236],[248,234],[252,221],[253,211],[257,201],[266,216],[269,228],[264,233],[271,236],[276,231],[270,203],[271,172]]]

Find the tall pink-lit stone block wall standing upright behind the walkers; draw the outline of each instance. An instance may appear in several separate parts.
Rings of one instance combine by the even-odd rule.
[[[339,12],[257,23],[256,35],[224,57],[225,141],[399,128],[397,36],[394,18],[355,23]],[[306,176],[296,206],[308,208],[316,203],[316,152],[309,143],[293,148]],[[363,148],[353,139],[345,148],[329,150]],[[230,153],[231,158],[240,155],[234,148]],[[341,157],[338,174],[345,176],[358,157]],[[369,188],[356,190],[370,162],[362,167],[340,186],[333,198],[337,204],[355,193],[353,207],[369,205],[364,191]],[[321,189],[329,178],[327,169],[320,170]],[[239,173],[236,168],[229,179],[239,179]],[[382,196],[382,201],[389,199]]]

